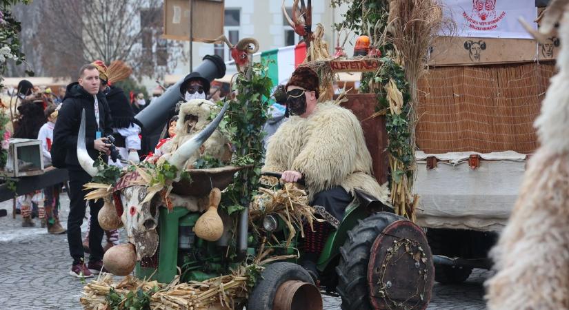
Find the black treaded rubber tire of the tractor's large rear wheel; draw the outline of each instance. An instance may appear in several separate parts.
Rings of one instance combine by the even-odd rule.
[[[397,220],[406,220],[397,214],[379,212],[363,220],[348,231],[348,240],[340,247],[340,262],[336,267],[343,310],[372,310],[368,290],[368,262],[370,250],[381,231]]]

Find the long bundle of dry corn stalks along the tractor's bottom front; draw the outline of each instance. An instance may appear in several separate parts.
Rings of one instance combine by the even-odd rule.
[[[169,285],[157,281],[139,280],[126,276],[120,282],[113,284],[112,276],[101,273],[97,280],[92,280],[83,288],[80,301],[86,310],[108,309],[107,296],[111,289],[119,296],[127,296],[130,292],[141,289],[150,295],[152,310],[206,310],[234,309],[235,304],[243,302],[247,296],[247,280],[245,268],[231,275],[211,278],[203,282],[179,283],[179,277]],[[127,298],[121,300],[121,306]],[[120,308],[119,308],[120,309]]]

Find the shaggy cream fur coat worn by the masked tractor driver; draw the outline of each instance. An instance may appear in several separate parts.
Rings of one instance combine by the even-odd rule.
[[[372,158],[356,116],[332,102],[319,103],[308,118],[292,116],[268,141],[265,172],[295,170],[312,195],[341,186],[388,200],[388,189],[372,176]]]

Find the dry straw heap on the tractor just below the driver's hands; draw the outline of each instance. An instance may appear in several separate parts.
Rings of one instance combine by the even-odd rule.
[[[310,228],[313,229],[312,223],[317,220],[314,216],[315,209],[308,205],[308,194],[303,189],[299,189],[295,183],[286,183],[282,189],[276,191],[261,187],[259,192],[249,211],[252,227],[255,227],[255,221],[259,218],[267,214],[277,214],[289,230],[286,240],[287,247],[297,234],[295,227],[300,229],[301,236],[304,237],[303,220],[307,220]]]

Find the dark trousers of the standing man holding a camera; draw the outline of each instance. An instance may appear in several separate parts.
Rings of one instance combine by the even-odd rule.
[[[81,225],[83,224],[83,218],[85,218],[87,208],[85,200],[86,192],[83,191],[83,185],[90,182],[91,176],[84,170],[68,169],[68,172],[70,211],[67,220],[67,238],[69,240],[69,253],[73,258],[73,264],[78,264],[85,256],[81,240]],[[103,229],[97,219],[99,210],[103,207],[103,200],[97,200],[97,203],[90,200],[89,207],[91,211],[91,229],[89,231],[89,249],[91,255],[89,260],[97,261],[103,259],[103,247],[101,246]]]

